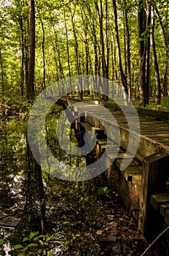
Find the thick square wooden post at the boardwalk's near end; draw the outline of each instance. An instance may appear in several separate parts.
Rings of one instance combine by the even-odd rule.
[[[150,195],[165,192],[168,170],[169,155],[164,151],[143,160],[138,228],[148,238],[156,236],[162,228],[162,218],[151,206]]]

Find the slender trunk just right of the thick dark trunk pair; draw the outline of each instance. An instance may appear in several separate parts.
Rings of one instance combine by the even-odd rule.
[[[152,33],[151,33],[151,43],[152,43],[152,58],[154,62],[154,72],[156,80],[156,103],[160,105],[161,102],[161,86],[160,86],[160,72],[157,62],[157,53],[154,40],[154,10],[152,10]]]

